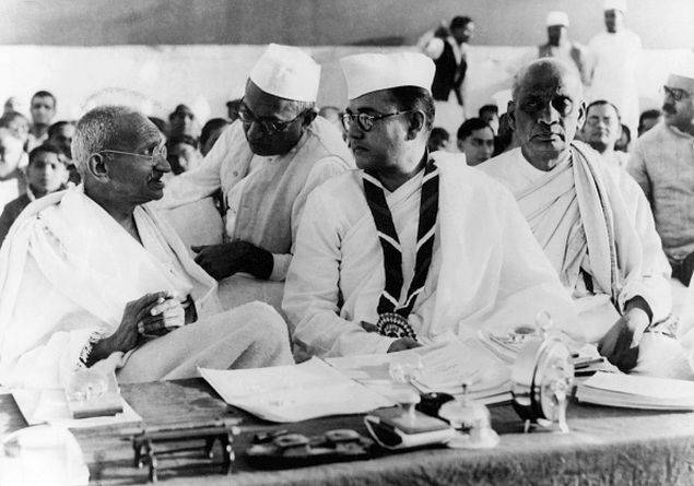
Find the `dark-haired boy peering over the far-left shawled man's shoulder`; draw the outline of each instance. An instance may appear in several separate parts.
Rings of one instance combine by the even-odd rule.
[[[46,142],[28,154],[26,192],[10,201],[2,211],[0,245],[24,208],[38,198],[64,189],[68,185],[68,175],[60,147]]]

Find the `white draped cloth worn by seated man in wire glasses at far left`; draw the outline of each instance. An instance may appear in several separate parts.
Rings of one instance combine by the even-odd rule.
[[[111,369],[126,366],[128,381],[191,377],[201,364],[232,366],[262,334],[279,351],[270,357],[260,345],[257,355],[270,365],[289,361],[287,343],[284,354],[277,344],[286,335],[277,312],[261,306],[256,317],[240,311],[239,320],[233,311],[221,313],[216,283],[190,259],[174,229],[142,206],[134,221],[142,245],[81,187],[26,208],[0,250],[0,383],[64,384],[90,340],[116,332],[127,303],[162,291],[181,301],[190,295],[198,322],[104,360]],[[254,320],[257,330],[246,329]],[[136,355],[143,366],[129,363]]]

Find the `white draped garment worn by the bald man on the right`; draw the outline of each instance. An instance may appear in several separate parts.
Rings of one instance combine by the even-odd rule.
[[[670,265],[662,252],[648,202],[638,185],[623,169],[603,163],[599,154],[587,145],[580,146],[595,157],[596,162],[591,165],[607,191],[607,203],[613,211],[614,221],[625,228],[624,234],[619,228],[611,228],[616,239],[617,268],[623,277],[616,299],[619,310],[621,311],[623,305],[633,297],[642,296],[652,310],[654,322],[663,320],[672,306],[668,282]],[[591,298],[583,280],[577,278],[577,274],[566,274],[567,271],[578,272],[580,265],[592,275],[598,275],[603,272],[605,262],[610,261],[609,256],[590,254],[590,246],[585,246],[585,236],[584,248],[574,248],[575,241],[580,237],[576,237],[572,232],[575,232],[576,227],[583,233],[590,230],[595,226],[596,217],[587,211],[588,205],[581,204],[581,197],[577,194],[580,189],[575,186],[576,173],[568,162],[571,161],[549,173],[542,171],[524,157],[520,149],[515,149],[487,161],[480,168],[503,182],[518,199],[524,215],[552,265],[577,298],[579,309],[584,309],[586,316],[590,316],[589,319],[584,319],[584,325],[591,327],[590,334],[595,341],[607,332],[619,315],[614,305],[609,301],[609,284],[607,288],[600,288],[598,285],[593,294],[598,298]],[[572,189],[565,190],[565,186],[560,185],[560,178],[554,174],[560,171],[564,171],[561,177],[569,179]],[[577,199],[578,204],[575,204]],[[560,216],[561,222],[556,223]],[[571,221],[574,217],[578,218],[578,224]],[[569,235],[569,238],[564,239],[564,235]],[[573,244],[567,246],[566,241]],[[567,261],[568,256],[574,252],[577,253],[578,260]],[[600,296],[603,297],[602,300],[599,299]],[[596,309],[597,305],[600,305],[600,310]]]

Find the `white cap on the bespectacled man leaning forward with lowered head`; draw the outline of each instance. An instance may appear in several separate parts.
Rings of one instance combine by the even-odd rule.
[[[280,98],[315,102],[320,66],[297,47],[270,44],[249,78],[260,90]]]

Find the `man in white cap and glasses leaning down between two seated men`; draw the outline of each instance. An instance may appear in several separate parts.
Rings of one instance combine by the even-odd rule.
[[[220,285],[225,307],[255,299],[279,307],[281,285],[264,281],[284,281],[306,197],[353,167],[338,129],[316,116],[319,80],[320,66],[306,52],[270,44],[250,71],[239,120],[224,131],[198,169],[172,180],[160,203],[174,208],[221,188],[225,241],[193,250],[210,275],[231,276]],[[237,273],[260,281],[233,276]],[[231,305],[226,297],[233,299]]]

